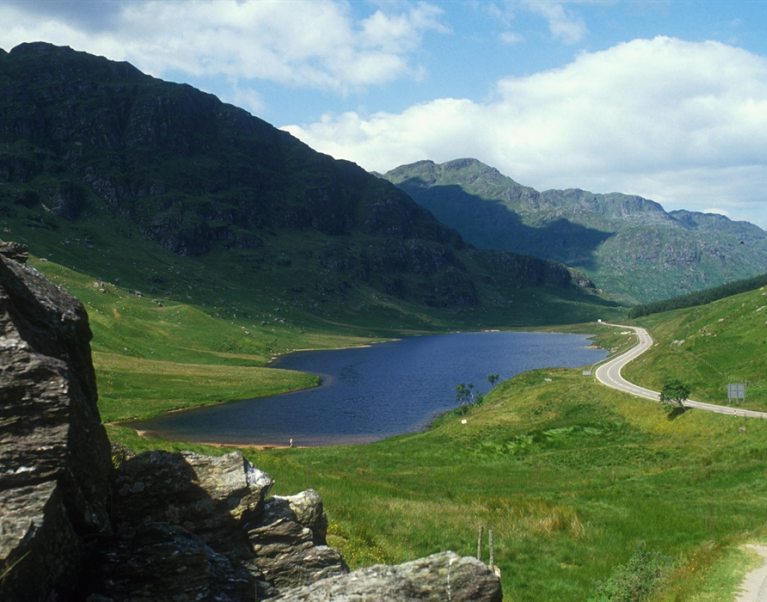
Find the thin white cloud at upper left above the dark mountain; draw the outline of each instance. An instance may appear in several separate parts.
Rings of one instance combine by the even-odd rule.
[[[75,18],[76,6],[53,10],[77,2],[37,10],[28,4],[0,7],[0,46],[44,39],[129,60],[158,76],[224,74],[342,94],[419,77],[410,54],[425,32],[447,31],[441,10],[427,3],[358,20],[337,0],[125,1],[107,3],[108,29]]]

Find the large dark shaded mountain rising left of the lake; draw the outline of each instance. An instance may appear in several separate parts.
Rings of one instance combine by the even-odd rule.
[[[94,277],[328,319],[523,307],[526,288],[530,307],[544,289],[598,301],[562,265],[473,249],[357,165],[128,63],[22,44],[0,52],[0,89],[2,236]]]

